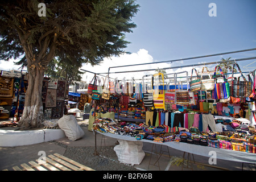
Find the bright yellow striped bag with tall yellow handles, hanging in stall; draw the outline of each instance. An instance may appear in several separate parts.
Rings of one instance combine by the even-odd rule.
[[[154,74],[154,80],[157,80],[156,82],[154,81],[154,83],[156,83],[156,85],[154,86],[154,91],[153,91],[154,108],[155,109],[165,109],[165,106],[164,106],[164,90],[159,92],[159,80],[161,79],[159,76],[162,77],[162,82],[161,83],[163,84],[163,88],[164,88],[163,73]]]

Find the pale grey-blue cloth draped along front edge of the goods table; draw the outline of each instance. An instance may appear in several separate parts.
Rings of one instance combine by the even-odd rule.
[[[189,143],[183,143],[183,142],[153,142],[152,140],[142,139],[137,140],[135,137],[130,137],[127,135],[115,135],[112,133],[101,133],[100,131],[96,131],[97,133],[100,133],[102,135],[105,135],[106,137],[112,137],[116,139],[122,139],[122,140],[128,140],[128,141],[134,141],[134,142],[147,142],[147,143],[154,143],[154,144],[162,144],[171,148],[174,148],[176,150],[188,152],[190,154],[196,154],[201,155],[205,157],[213,157],[212,154],[209,154],[211,151],[216,152],[216,158],[222,159],[222,160],[230,160],[233,162],[243,162],[243,163],[256,163],[256,154],[249,153],[249,152],[240,152],[240,151],[234,151],[234,150],[226,150],[222,148],[214,148],[214,147],[208,147],[208,146],[200,146],[197,144],[189,144]],[[96,136],[96,133],[94,133]]]

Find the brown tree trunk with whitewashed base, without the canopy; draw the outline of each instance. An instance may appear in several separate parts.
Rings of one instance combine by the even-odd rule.
[[[44,121],[42,86],[44,70],[35,67],[28,71],[28,88],[22,117],[18,123],[20,130],[42,127]]]

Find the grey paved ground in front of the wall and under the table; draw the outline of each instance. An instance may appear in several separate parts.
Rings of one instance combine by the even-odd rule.
[[[189,162],[187,165],[178,163],[178,159],[183,157],[183,152],[167,148],[163,146],[163,155],[159,159],[156,166],[151,165],[156,162],[156,153],[160,151],[160,145],[156,144],[152,150],[152,143],[143,142],[143,150],[145,152],[144,159],[139,165],[123,164],[118,161],[117,155],[113,150],[117,140],[113,138],[105,137],[102,139],[101,134],[97,134],[97,152],[99,155],[95,155],[95,137],[91,131],[88,131],[86,122],[79,122],[79,125],[84,130],[85,135],[83,138],[70,141],[67,137],[53,140],[51,142],[43,142],[39,144],[32,144],[28,146],[18,147],[0,147],[0,170],[9,169],[13,170],[13,166],[19,166],[22,163],[27,163],[30,160],[38,159],[39,151],[45,151],[46,155],[59,153],[70,159],[75,160],[85,166],[93,168],[97,171],[241,171],[242,163],[230,162],[227,160],[218,160],[216,165],[209,165],[208,159],[203,156],[194,155],[195,162]],[[102,147],[101,146],[102,142]],[[105,147],[106,146],[106,147]],[[169,152],[167,152],[169,150]],[[190,156],[193,159],[192,155]],[[186,155],[187,158],[187,155]],[[174,163],[177,162],[177,163]],[[151,164],[150,164],[151,163]],[[149,165],[150,164],[150,165]],[[252,164],[244,164],[243,170],[255,171]]]

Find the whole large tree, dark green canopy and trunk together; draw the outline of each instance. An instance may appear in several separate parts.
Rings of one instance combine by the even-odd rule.
[[[69,57],[70,67],[97,65],[123,53],[138,8],[134,0],[1,1],[0,59],[24,55],[28,71],[21,129],[42,126],[42,81],[49,61]]]

